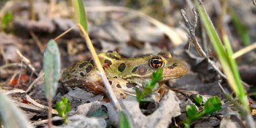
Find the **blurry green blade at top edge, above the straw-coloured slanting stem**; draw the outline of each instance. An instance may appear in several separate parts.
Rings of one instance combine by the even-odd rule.
[[[84,1],[83,0],[73,1],[73,7],[75,8],[75,16],[76,16],[77,23],[81,24],[84,30],[88,32],[86,9],[84,9]]]

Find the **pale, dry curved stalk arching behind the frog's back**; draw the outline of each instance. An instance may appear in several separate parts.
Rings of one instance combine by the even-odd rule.
[[[175,32],[172,28],[169,26],[166,26],[166,24],[163,24],[162,22],[159,22],[158,20],[150,17],[149,15],[146,15],[145,13],[142,13],[141,11],[136,11],[134,9],[129,9],[128,7],[118,7],[118,6],[104,6],[104,7],[86,7],[86,11],[123,11],[127,13],[131,13],[133,15],[137,15],[141,18],[146,18],[148,22],[151,24],[154,24],[154,26],[160,28],[168,36],[170,41],[174,44],[174,46],[178,46],[179,44],[183,43],[183,39],[177,32]]]

